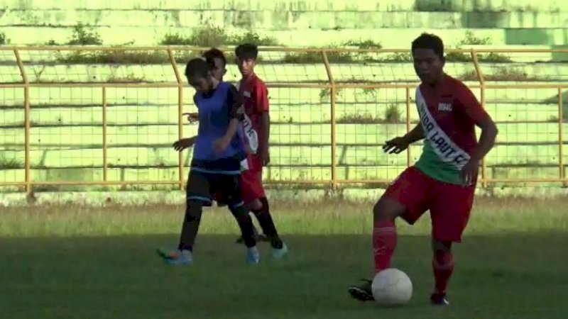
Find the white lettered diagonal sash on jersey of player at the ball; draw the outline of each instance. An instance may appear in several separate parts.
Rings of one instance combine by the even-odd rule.
[[[454,141],[439,127],[434,116],[428,110],[427,103],[422,96],[420,88],[416,89],[416,106],[422,123],[422,130],[427,142],[442,162],[454,166],[456,169],[464,167],[469,162],[469,154],[456,145]]]

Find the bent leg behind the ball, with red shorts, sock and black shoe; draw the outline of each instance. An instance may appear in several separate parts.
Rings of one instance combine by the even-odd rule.
[[[391,267],[397,245],[395,219],[402,217],[413,224],[427,210],[427,179],[415,167],[405,170],[373,207],[373,257],[375,274]],[[349,287],[352,297],[373,300],[371,281]]]

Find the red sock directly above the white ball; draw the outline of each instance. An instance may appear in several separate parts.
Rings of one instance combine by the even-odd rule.
[[[394,220],[375,220],[373,223],[373,254],[375,272],[391,266],[396,247],[396,226]]]

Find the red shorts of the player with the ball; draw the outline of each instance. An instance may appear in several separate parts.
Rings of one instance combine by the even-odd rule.
[[[475,185],[444,183],[428,177],[416,167],[409,167],[383,196],[406,206],[401,217],[410,225],[430,210],[432,237],[439,241],[461,242],[474,203]]]

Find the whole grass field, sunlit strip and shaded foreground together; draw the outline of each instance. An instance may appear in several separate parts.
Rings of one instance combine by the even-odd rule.
[[[450,284],[432,287],[429,218],[398,223],[393,267],[414,296],[403,308],[351,300],[372,274],[373,203],[273,203],[290,255],[244,264],[229,213],[204,213],[192,267],[155,248],[178,242],[182,208],[31,206],[0,211],[0,318],[567,318],[568,200],[480,198]],[[268,252],[262,244],[262,252]]]

